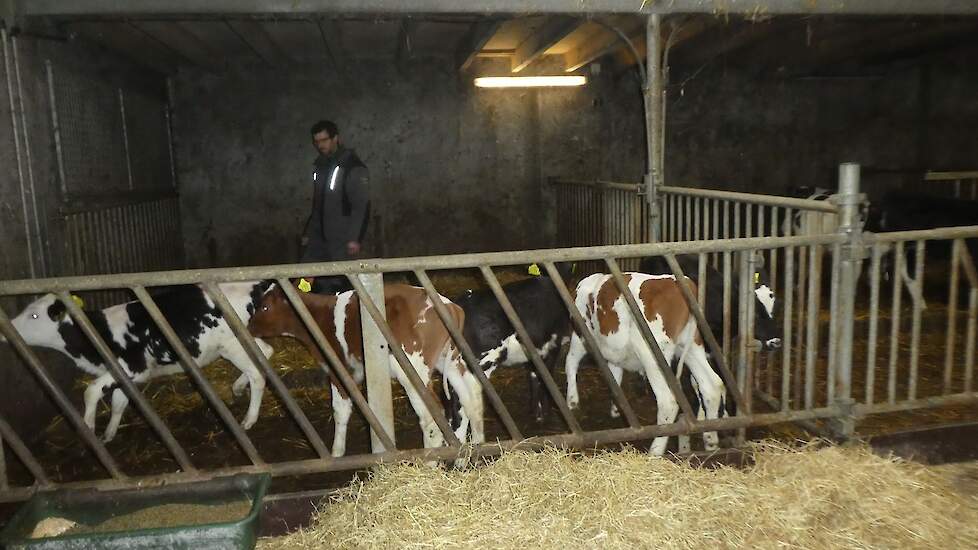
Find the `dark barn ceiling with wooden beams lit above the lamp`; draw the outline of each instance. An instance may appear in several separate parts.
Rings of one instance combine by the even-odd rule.
[[[851,73],[978,43],[978,18],[967,16],[672,15],[663,27],[670,66],[680,72],[723,59],[787,76]],[[72,15],[24,26],[94,41],[167,74],[181,67],[220,71],[249,59],[290,66],[430,57],[450,58],[460,70],[478,57],[508,59],[514,73],[543,66],[572,72],[596,60],[627,70],[635,55],[612,28],[644,57],[639,14]]]

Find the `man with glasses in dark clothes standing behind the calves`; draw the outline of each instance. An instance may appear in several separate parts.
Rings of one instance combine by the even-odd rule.
[[[353,149],[340,143],[331,121],[312,125],[312,144],[319,151],[313,163],[312,214],[302,237],[301,262],[330,262],[356,258],[370,217],[370,174]],[[335,292],[345,278],[316,281],[316,290]]]

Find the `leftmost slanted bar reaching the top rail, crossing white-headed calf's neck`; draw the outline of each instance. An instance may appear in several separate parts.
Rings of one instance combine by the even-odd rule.
[[[72,319],[75,320],[75,324],[77,324],[78,328],[80,328],[85,336],[88,337],[88,340],[102,357],[102,360],[105,361],[105,364],[108,366],[108,371],[112,374],[112,378],[119,384],[119,387],[126,394],[126,396],[135,401],[136,408],[139,410],[140,414],[143,415],[143,418],[146,419],[146,422],[148,422],[153,428],[153,431],[155,431],[163,441],[163,444],[166,446],[167,450],[170,451],[170,454],[173,455],[173,458],[176,459],[177,464],[180,465],[180,469],[185,472],[197,471],[193,463],[190,461],[190,457],[187,455],[187,452],[183,449],[180,443],[177,442],[176,438],[173,437],[173,433],[170,432],[170,428],[168,428],[163,422],[163,419],[156,414],[156,411],[153,410],[153,407],[149,404],[146,396],[144,396],[143,393],[139,391],[139,388],[136,387],[136,384],[132,381],[132,378],[130,378],[129,375],[126,374],[126,371],[122,369],[122,365],[119,364],[118,359],[116,359],[115,355],[112,353],[112,350],[109,349],[109,346],[105,343],[105,340],[103,340],[98,331],[95,330],[95,326],[92,325],[92,321],[88,318],[88,315],[86,315],[85,312],[78,307],[78,304],[71,299],[71,296],[69,296],[67,292],[59,292],[57,296],[58,299],[61,300],[61,303],[68,308],[68,313],[71,314]]]

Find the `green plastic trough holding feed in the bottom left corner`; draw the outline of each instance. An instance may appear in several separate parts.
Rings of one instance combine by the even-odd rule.
[[[0,532],[0,548],[10,550],[149,548],[250,550],[255,547],[258,537],[258,517],[269,480],[268,474],[240,474],[209,481],[146,489],[58,490],[37,493]],[[248,514],[220,523],[29,538],[37,523],[48,517],[61,517],[93,525],[151,506],[227,504],[244,499],[251,501]]]

